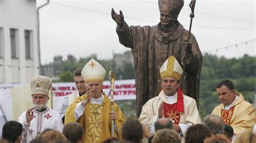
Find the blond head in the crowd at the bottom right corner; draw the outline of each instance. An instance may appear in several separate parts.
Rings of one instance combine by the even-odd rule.
[[[237,135],[235,138],[234,143],[253,143],[256,142],[256,133],[251,131],[246,131]]]

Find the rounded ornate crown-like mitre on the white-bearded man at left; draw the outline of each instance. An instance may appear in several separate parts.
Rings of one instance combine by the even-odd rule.
[[[52,80],[47,76],[38,75],[31,78],[30,87],[31,95],[42,94],[49,96]]]

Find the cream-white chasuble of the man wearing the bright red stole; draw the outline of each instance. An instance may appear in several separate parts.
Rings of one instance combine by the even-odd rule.
[[[150,129],[151,126],[154,126],[153,123],[154,121],[156,121],[156,118],[158,116],[158,109],[162,102],[167,104],[169,103],[163,90],[161,90],[158,96],[151,98],[149,101],[147,101],[146,104],[143,105],[142,113],[139,116],[139,120],[142,121],[142,123],[147,128]],[[174,98],[174,103],[177,103],[177,96]],[[183,95],[183,103],[184,112],[179,112],[179,124],[187,124],[189,126],[201,124],[196,101],[191,97]],[[185,134],[184,131],[182,132],[183,134]]]

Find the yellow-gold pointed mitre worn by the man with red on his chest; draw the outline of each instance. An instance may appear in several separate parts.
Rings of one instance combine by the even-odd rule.
[[[170,56],[161,66],[160,68],[160,77],[163,79],[164,77],[173,77],[176,80],[180,80],[181,74],[183,70],[179,65],[179,62],[172,55]]]

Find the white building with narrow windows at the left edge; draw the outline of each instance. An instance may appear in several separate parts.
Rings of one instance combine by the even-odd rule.
[[[39,75],[36,0],[0,0],[0,83]]]

